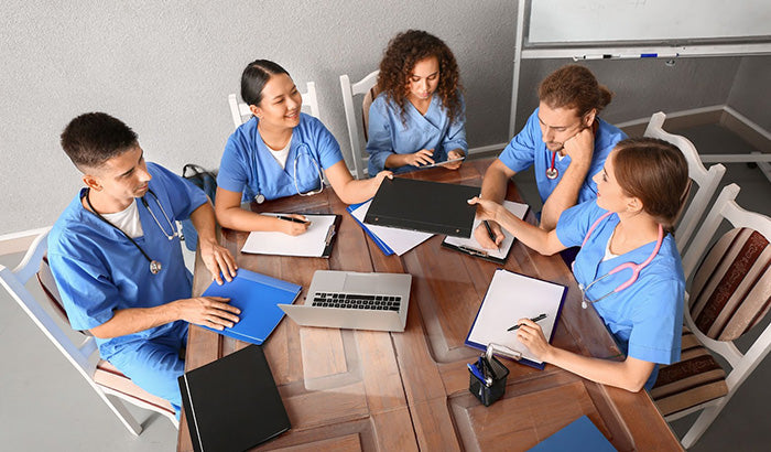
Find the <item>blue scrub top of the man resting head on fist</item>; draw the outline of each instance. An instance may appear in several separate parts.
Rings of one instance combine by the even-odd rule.
[[[591,180],[591,176],[602,170],[605,159],[608,158],[610,151],[617,142],[627,138],[619,128],[604,121],[600,118],[595,118],[598,121],[597,133],[595,134],[595,150],[591,155],[591,166],[586,174],[586,180],[578,191],[578,204],[595,200],[597,197],[597,184]],[[543,133],[539,123],[539,109],[536,108],[524,128],[503,149],[503,152],[498,157],[503,164],[511,171],[520,172],[535,164],[535,184],[539,187],[541,202],[545,203],[546,198],[556,189],[557,183],[562,180],[563,174],[567,171],[571,164],[571,158],[565,155],[562,160],[560,157],[554,161],[554,166],[558,171],[556,179],[546,177],[546,170],[552,165],[552,151],[546,149],[546,143],[543,142]]]

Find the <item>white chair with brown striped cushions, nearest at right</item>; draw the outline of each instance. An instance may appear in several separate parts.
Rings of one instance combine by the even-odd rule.
[[[684,310],[683,352],[678,363],[660,369],[651,390],[667,421],[702,411],[683,437],[686,449],[771,351],[771,325],[747,353],[734,344],[767,315],[771,304],[771,218],[739,207],[734,201],[738,193],[736,184],[723,189],[685,254],[683,270],[686,281],[692,276],[693,281]],[[724,218],[734,229],[702,258]],[[728,376],[709,351],[728,362]]]

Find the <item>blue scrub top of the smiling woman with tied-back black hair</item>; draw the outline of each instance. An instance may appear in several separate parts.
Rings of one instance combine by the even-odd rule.
[[[262,141],[257,125],[257,117],[252,117],[228,138],[217,175],[217,185],[243,193],[243,202],[253,201],[258,194],[265,200],[296,195],[297,187],[300,193],[317,190],[319,171],[343,160],[340,146],[322,121],[300,114],[300,123],[292,130],[286,166],[282,169]]]

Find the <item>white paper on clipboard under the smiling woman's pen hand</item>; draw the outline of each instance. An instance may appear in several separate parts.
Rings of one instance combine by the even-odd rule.
[[[285,214],[262,214],[270,216]],[[305,215],[311,226],[304,234],[290,236],[276,232],[252,232],[243,244],[241,252],[256,255],[321,257],[326,248],[329,226],[335,224],[335,215]]]

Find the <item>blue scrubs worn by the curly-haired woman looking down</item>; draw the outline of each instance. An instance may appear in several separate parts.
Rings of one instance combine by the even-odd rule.
[[[447,152],[460,149],[468,153],[466,143],[466,105],[459,118],[449,123],[447,109],[439,96],[434,93],[425,116],[410,103],[405,103],[406,123],[402,122],[399,106],[387,94],[378,96],[369,107],[369,126],[367,152],[369,153],[369,175],[373,176],[386,169],[389,155],[415,153],[421,149],[433,149],[434,161],[447,160]],[[416,170],[417,166],[404,165],[390,169],[395,174]]]

